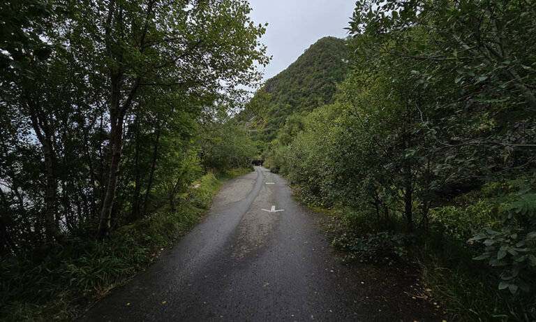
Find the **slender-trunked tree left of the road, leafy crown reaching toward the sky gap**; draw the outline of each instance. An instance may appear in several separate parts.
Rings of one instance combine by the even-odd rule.
[[[124,122],[141,87],[177,91],[183,96],[224,92],[259,74],[254,61],[266,64],[258,37],[265,29],[248,18],[246,1],[85,1],[75,5],[82,54],[96,57],[109,83],[109,172],[98,238],[110,229]],[[90,26],[89,34],[83,30]],[[84,37],[89,37],[84,39]],[[80,57],[82,59],[82,57]],[[198,106],[202,108],[202,106]]]

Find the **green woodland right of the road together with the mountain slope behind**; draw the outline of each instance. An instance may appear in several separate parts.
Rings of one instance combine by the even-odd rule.
[[[243,113],[348,261],[416,263],[455,321],[536,319],[535,10],[359,0],[344,47],[295,63],[334,77],[290,66]]]

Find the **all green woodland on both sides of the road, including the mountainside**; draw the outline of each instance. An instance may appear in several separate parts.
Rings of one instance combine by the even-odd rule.
[[[76,319],[257,158],[349,265],[417,267],[449,321],[535,321],[536,1],[357,0],[264,83],[250,13],[0,2],[0,319]]]

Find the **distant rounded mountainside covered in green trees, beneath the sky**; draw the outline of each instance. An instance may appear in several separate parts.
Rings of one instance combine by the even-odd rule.
[[[333,103],[336,85],[348,72],[343,39],[321,38],[285,71],[267,80],[244,111],[255,140],[269,142],[294,113]]]

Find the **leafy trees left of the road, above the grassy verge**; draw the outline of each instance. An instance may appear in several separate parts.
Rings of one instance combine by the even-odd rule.
[[[3,251],[174,208],[204,163],[202,119],[240,103],[267,63],[248,3],[21,3],[44,13],[29,10],[22,54],[3,45]]]

